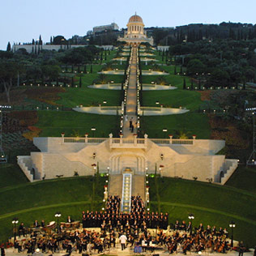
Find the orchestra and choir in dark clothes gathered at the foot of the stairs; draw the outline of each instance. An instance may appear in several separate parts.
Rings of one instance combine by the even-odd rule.
[[[211,228],[209,225],[204,228],[203,224],[192,228],[190,222],[186,224],[184,220],[181,223],[177,220],[171,225],[171,230],[165,232],[169,224],[168,213],[150,213],[139,195],[133,196],[130,202],[130,212],[125,213],[120,211],[121,198],[109,196],[105,211],[83,211],[83,228],[61,228],[57,233],[40,233],[35,229],[24,241],[15,241],[15,248],[19,252],[28,250],[28,254],[36,248],[43,253],[63,251],[71,254],[75,250],[91,254],[92,250],[101,253],[120,242],[122,250],[134,246],[137,252],[165,249],[169,254],[177,251],[186,254],[191,250],[225,253],[230,247],[225,228]],[[68,216],[67,221],[73,220]],[[34,227],[44,229],[45,222],[39,224],[36,220]],[[23,234],[23,224],[20,232],[19,235]]]

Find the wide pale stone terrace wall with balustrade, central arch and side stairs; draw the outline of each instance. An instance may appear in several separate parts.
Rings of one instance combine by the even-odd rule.
[[[99,164],[100,173],[118,175],[130,169],[135,175],[160,173],[224,184],[237,169],[237,160],[215,155],[223,140],[209,139],[144,139],[112,138],[34,138],[39,152],[18,156],[18,164],[30,181],[93,175]]]

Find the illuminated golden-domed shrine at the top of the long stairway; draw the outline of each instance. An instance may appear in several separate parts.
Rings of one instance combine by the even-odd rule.
[[[141,43],[153,45],[154,43],[152,37],[147,37],[147,32],[144,31],[143,19],[136,13],[130,17],[124,37],[118,37],[117,41],[126,41],[129,45],[139,45]]]

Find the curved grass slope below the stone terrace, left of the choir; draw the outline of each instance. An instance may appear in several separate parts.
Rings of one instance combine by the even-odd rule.
[[[73,177],[0,189],[0,241],[11,236],[14,217],[30,227],[34,220],[54,220],[56,211],[66,221],[67,215],[80,220],[82,211],[100,210],[104,185],[105,177]]]

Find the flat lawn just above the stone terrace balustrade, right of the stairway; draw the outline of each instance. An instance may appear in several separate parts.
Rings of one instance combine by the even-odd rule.
[[[141,117],[142,130],[149,138],[169,138],[173,134],[179,138],[180,132],[187,134],[189,138],[197,135],[198,139],[209,139],[211,130],[208,118],[202,113],[183,113],[169,116]],[[163,129],[168,132],[164,134]]]

